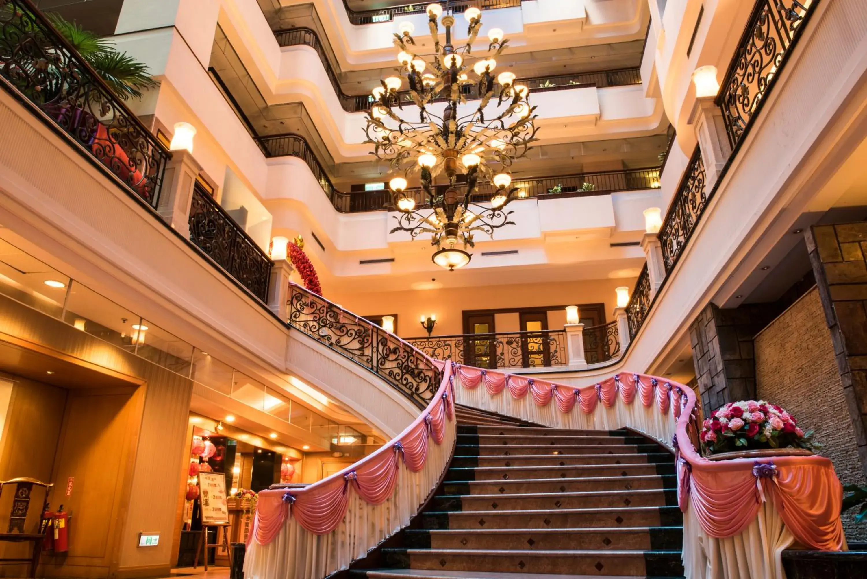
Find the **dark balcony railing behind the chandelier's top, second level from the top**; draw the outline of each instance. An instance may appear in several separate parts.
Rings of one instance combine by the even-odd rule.
[[[415,4],[420,5],[420,4]],[[423,10],[424,4],[421,4]],[[337,99],[340,101],[343,110],[349,113],[355,113],[370,109],[370,95],[347,95],[343,92],[340,84],[340,78],[337,75],[334,66],[332,66],[325,47],[316,30],[310,28],[293,28],[290,30],[277,30],[274,32],[277,38],[277,43],[280,46],[297,46],[304,45],[316,50],[319,60],[323,63],[325,73],[329,77],[331,87],[334,89]],[[533,92],[546,92],[549,90],[564,90],[564,89],[579,89],[582,87],[621,87],[631,84],[641,84],[642,74],[641,69],[613,69],[600,70],[596,72],[579,72],[572,75],[551,75],[551,76],[530,76],[519,78],[517,81],[520,84],[525,84]],[[462,89],[467,99],[479,99],[479,87],[475,84],[467,84]],[[403,102],[411,104],[413,102],[409,91],[401,92]],[[434,99],[434,102],[445,101],[447,99]]]

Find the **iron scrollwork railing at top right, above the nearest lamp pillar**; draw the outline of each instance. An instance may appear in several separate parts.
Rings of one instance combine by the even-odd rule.
[[[818,0],[759,0],[734,53],[717,105],[732,148],[743,138]]]

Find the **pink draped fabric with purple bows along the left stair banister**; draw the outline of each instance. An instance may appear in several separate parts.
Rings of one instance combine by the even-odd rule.
[[[454,389],[451,364],[440,366],[443,379],[427,411],[389,444],[358,463],[316,484],[298,490],[262,490],[253,529],[247,539],[259,544],[274,540],[290,516],[316,535],[335,530],[346,515],[349,485],[364,501],[384,503],[394,493],[401,462],[419,472],[427,462],[428,437],[436,444],[446,438],[447,421],[454,418]]]

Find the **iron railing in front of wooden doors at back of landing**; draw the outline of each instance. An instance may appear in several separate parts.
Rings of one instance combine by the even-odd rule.
[[[569,363],[563,330],[473,333],[407,338],[433,359],[450,359],[478,368],[537,368]]]

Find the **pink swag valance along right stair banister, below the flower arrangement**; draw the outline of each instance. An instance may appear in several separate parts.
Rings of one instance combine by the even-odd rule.
[[[737,535],[753,522],[761,503],[773,501],[799,543],[822,550],[844,546],[840,523],[843,487],[831,460],[812,456],[710,461],[700,457],[688,437],[695,407],[695,393],[688,386],[626,372],[582,388],[460,365],[456,372],[466,388],[483,384],[491,396],[506,390],[512,398],[529,393],[536,405],[548,405],[553,399],[562,412],[572,411],[577,404],[589,414],[600,403],[615,405],[618,398],[630,405],[636,394],[643,406],[655,405],[663,415],[673,408],[678,502],[684,512],[693,506],[707,535]]]

